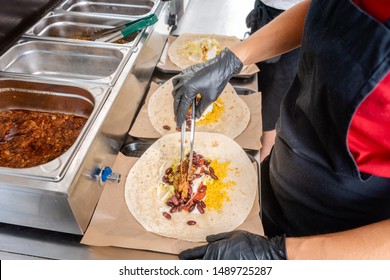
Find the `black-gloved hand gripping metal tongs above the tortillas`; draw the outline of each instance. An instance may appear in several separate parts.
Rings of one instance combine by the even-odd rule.
[[[198,93],[202,98],[196,106],[196,118],[200,118],[207,106],[217,100],[230,78],[241,71],[242,62],[228,48],[204,63],[192,65],[173,78],[173,99],[176,125],[186,119],[192,100]]]

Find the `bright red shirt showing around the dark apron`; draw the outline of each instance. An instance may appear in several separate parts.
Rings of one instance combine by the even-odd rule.
[[[389,0],[354,3],[382,23],[390,19]],[[390,73],[357,108],[347,141],[360,172],[390,178]]]

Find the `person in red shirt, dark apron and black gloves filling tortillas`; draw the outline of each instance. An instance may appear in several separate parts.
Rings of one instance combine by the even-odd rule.
[[[230,77],[301,46],[275,146],[262,164],[267,236],[208,238],[183,259],[390,259],[390,9],[387,0],[306,0],[175,80],[177,123]]]

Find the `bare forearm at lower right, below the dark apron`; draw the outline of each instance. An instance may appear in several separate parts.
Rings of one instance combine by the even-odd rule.
[[[286,238],[288,259],[390,259],[390,219],[353,230]]]

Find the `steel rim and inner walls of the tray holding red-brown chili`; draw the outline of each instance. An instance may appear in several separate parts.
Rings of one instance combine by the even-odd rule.
[[[92,87],[86,84],[79,84],[76,87],[69,84],[0,77],[0,110],[59,112],[88,118],[76,141],[58,158],[30,168],[0,167],[0,174],[46,181],[61,180],[107,95],[108,87]]]

